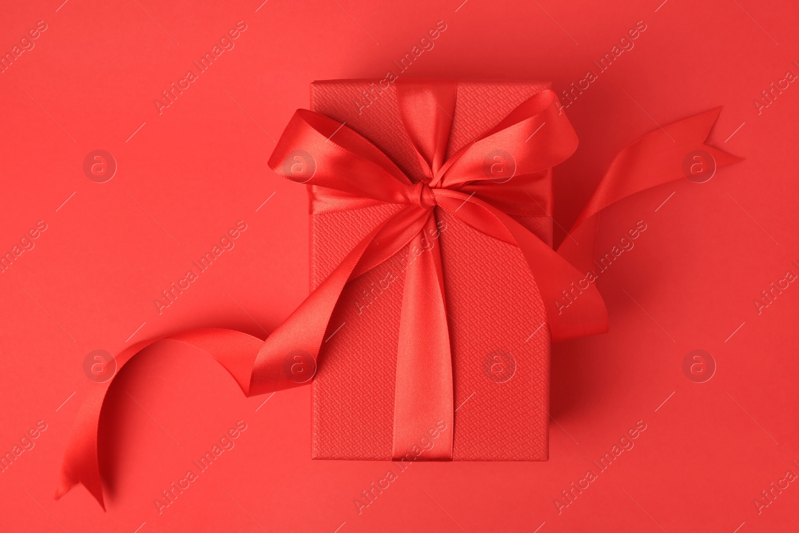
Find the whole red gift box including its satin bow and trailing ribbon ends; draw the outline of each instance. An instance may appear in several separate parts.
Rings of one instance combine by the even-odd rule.
[[[157,341],[213,356],[247,396],[312,382],[315,459],[546,460],[551,342],[606,332],[589,272],[598,212],[685,177],[720,109],[615,157],[556,253],[552,167],[577,147],[549,84],[314,82],[269,166],[308,187],[310,296],[267,340],[228,329]],[[579,242],[580,245],[576,243]],[[568,243],[568,244],[566,244]],[[575,268],[575,265],[579,268]],[[93,384],[56,498],[103,505]]]

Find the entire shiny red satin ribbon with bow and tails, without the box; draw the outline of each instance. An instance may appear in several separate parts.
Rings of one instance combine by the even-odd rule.
[[[406,455],[419,436],[443,420],[447,430],[439,439],[444,445],[437,447],[431,459],[451,459],[454,411],[447,303],[440,250],[429,237],[435,231],[437,209],[519,248],[542,294],[553,341],[607,331],[606,309],[594,285],[584,290],[566,312],[559,312],[559,296],[582,275],[564,259],[563,255],[568,254],[555,253],[511,216],[540,216],[546,212],[540,205],[531,205],[529,198],[546,201],[548,169],[564,161],[577,147],[577,136],[559,109],[555,93],[544,90],[531,97],[495,128],[445,161],[457,82],[403,80],[396,87],[400,117],[419,159],[422,181],[412,182],[388,156],[352,129],[304,109],[296,111],[269,159],[269,166],[276,173],[313,185],[314,213],[385,204],[396,205],[396,212],[356,244],[267,340],[227,329],[180,332],[127,348],[117,356],[118,368],[150,344],[173,341],[212,356],[237,380],[246,396],[296,387],[307,382],[308,376],[298,380],[290,368],[294,364],[300,364],[306,372],[316,368],[330,317],[345,284],[407,245],[411,249],[427,249],[408,265],[403,287],[392,455]],[[712,120],[703,113],[666,126],[670,137],[658,130],[624,149],[578,227],[589,224],[605,205],[681,177],[674,170],[680,168],[686,153],[710,148],[703,141],[718,110],[710,113],[715,113]],[[487,155],[496,150],[511,154],[515,160],[515,175],[504,183],[485,171]],[[712,150],[719,166],[738,160]],[[308,168],[313,169],[310,177]],[[586,248],[566,251],[579,258],[583,250],[592,249],[594,236],[595,232],[590,233],[584,241]],[[82,483],[105,509],[97,463],[97,431],[103,400],[112,381],[94,385],[78,412],[56,499]]]

